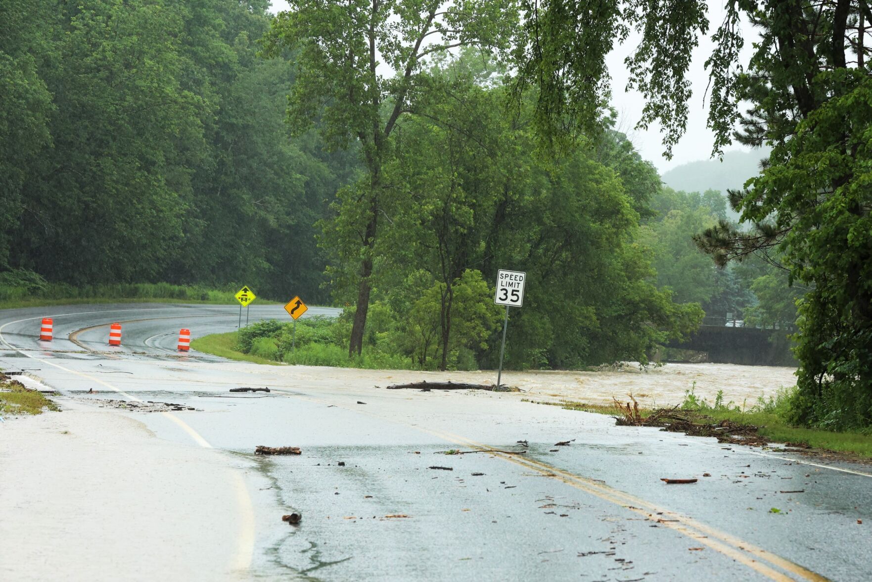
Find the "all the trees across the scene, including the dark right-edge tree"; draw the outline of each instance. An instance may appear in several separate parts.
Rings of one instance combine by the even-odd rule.
[[[446,369],[494,364],[495,271],[526,270],[509,366],[645,363],[732,317],[799,330],[796,419],[869,424],[867,4],[727,3],[713,154],[763,160],[726,198],[665,187],[607,106],[635,31],[670,154],[705,3],[600,4],[7,0],[0,283],[245,283]]]

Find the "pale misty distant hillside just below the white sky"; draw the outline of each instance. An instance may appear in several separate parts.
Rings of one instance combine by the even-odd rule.
[[[726,194],[727,188],[742,188],[745,181],[760,173],[760,159],[767,152],[733,150],[724,154],[724,161],[691,161],[672,168],[662,176],[664,184],[673,190],[705,192],[711,188]]]

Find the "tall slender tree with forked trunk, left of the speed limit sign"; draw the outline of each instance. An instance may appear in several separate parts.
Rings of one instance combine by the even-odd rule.
[[[356,142],[367,175],[337,204],[327,227],[343,247],[343,267],[354,256],[357,284],[349,353],[363,348],[378,236],[383,168],[400,116],[413,108],[429,82],[428,55],[459,46],[503,51],[504,31],[516,22],[513,0],[293,0],[266,39],[266,52],[290,51],[296,82],[288,120],[297,132],[319,120],[331,147]],[[356,250],[349,249],[355,243]]]

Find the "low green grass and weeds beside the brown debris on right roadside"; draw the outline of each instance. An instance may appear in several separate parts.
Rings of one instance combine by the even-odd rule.
[[[872,431],[868,428],[855,431],[830,431],[792,424],[790,419],[794,418],[792,407],[795,402],[795,391],[795,387],[791,390],[782,388],[778,394],[768,399],[760,396],[753,404],[742,402],[739,405],[732,401],[725,402],[723,392],[719,392],[713,402],[705,401],[696,394],[695,387],[691,387],[685,392],[685,399],[676,411],[681,418],[697,425],[721,425],[726,421],[735,425],[745,435],[760,436],[768,442],[790,443],[800,448],[809,447],[872,458]],[[605,405],[578,401],[528,400],[528,402],[559,406],[567,410],[608,414],[615,417],[619,424],[664,426],[670,422],[668,419],[657,420],[655,423],[649,422],[657,413],[662,414],[664,409],[644,408],[639,408],[637,411],[631,408],[631,414],[637,414],[637,417],[636,420],[627,422],[626,404],[617,401]],[[685,432],[683,427],[678,428],[682,428],[681,432]]]

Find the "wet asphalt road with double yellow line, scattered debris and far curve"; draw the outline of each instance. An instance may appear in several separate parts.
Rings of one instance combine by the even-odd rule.
[[[250,315],[287,318],[281,305]],[[44,316],[51,344],[36,340]],[[31,369],[62,406],[196,408],[123,414],[161,438],[244,457],[271,483],[249,491],[268,508],[253,579],[872,579],[869,467],[616,427],[519,394],[388,391],[389,372],[375,387],[341,369],[175,352],[179,328],[195,338],[231,331],[237,317],[213,305],[7,310],[0,366]],[[124,346],[110,349],[113,321]],[[272,392],[228,393],[243,386]],[[255,457],[260,444],[303,455]],[[452,449],[469,452],[441,454]],[[488,449],[507,452],[473,452]],[[278,519],[294,510],[299,526]]]

